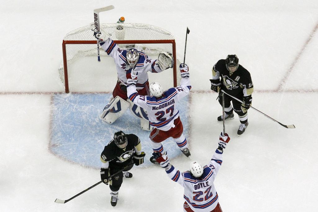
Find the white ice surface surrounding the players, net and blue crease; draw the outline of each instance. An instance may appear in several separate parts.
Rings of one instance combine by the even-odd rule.
[[[175,36],[181,60],[189,27],[186,64],[192,90],[187,138],[193,160],[207,163],[217,147],[222,122],[216,118],[221,107],[208,79],[214,63],[227,54],[237,54],[251,73],[252,106],[296,126],[286,129],[249,110],[249,126],[237,137],[237,115],[227,122],[231,141],[215,181],[223,211],[318,211],[318,4],[314,0],[2,2],[1,211],[182,211],[183,188],[160,167],[146,164],[134,167],[134,177],[124,180],[115,208],[105,185],[65,204],[54,203],[100,181],[98,168],[64,160],[52,154],[49,145],[56,136],[52,128],[55,110],[63,109],[54,99],[64,94],[53,93],[64,91],[57,73],[62,39],[67,32],[91,23],[93,9],[107,5],[115,9],[101,13],[101,22],[124,16],[127,22],[164,28]],[[87,58],[74,64],[78,74],[70,73],[73,94],[112,92],[116,72],[111,67],[107,71],[110,62],[99,64]],[[149,78],[167,82],[168,88],[169,76],[164,72]],[[95,107],[101,110],[103,106]],[[97,123],[97,115],[92,124]],[[94,135],[88,123],[84,124]],[[101,151],[102,144],[95,142],[94,148],[100,145]],[[96,156],[86,149],[82,161]],[[183,155],[171,159],[181,171],[188,169],[189,162]]]

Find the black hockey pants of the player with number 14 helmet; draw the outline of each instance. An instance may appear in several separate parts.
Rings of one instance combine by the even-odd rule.
[[[240,96],[240,97],[237,97],[236,98],[240,99],[243,101],[243,98]],[[219,95],[218,97],[218,101],[220,103],[220,105],[222,106],[222,96]],[[231,101],[232,101],[232,104],[233,104],[233,108],[232,108],[232,105],[231,105]],[[233,113],[233,110],[235,111],[235,113],[237,113],[239,115],[239,121],[242,123],[242,124],[245,124],[247,122],[247,118],[248,118],[248,114],[247,114],[247,111],[244,113],[242,111],[242,103],[239,102],[238,100],[236,99],[233,99],[232,97],[224,94],[224,111],[226,114],[231,114]]]

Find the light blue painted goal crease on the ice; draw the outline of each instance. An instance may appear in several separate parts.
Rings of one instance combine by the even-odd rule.
[[[54,94],[52,98],[52,124],[50,149],[52,153],[77,164],[100,168],[100,154],[104,146],[113,138],[114,132],[136,134],[146,153],[144,165],[150,166],[152,155],[149,134],[140,128],[140,120],[128,109],[113,124],[107,124],[99,118],[108,103],[111,93],[107,94]],[[183,133],[189,137],[189,96],[181,99],[176,108],[183,123]],[[179,147],[171,138],[162,142],[169,158],[181,154]]]

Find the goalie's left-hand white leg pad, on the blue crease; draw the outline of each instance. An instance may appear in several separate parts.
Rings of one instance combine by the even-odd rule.
[[[108,124],[112,124],[125,113],[129,105],[129,102],[116,96],[105,106],[103,112],[100,114],[100,118]]]

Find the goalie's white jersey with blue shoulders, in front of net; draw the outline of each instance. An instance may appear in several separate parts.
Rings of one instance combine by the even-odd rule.
[[[114,58],[118,79],[124,85],[127,85],[126,72],[130,68],[126,58],[127,50],[120,49],[119,46],[110,38],[108,38],[105,42],[100,42],[100,46],[109,56]],[[156,65],[155,62],[156,60],[148,58],[145,53],[139,51],[139,59],[134,69],[135,72],[138,72],[138,83],[136,85],[138,90],[144,88],[148,82],[147,72],[162,72],[159,65]]]

